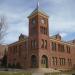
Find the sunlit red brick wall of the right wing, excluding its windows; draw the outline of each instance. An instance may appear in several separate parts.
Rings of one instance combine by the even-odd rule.
[[[68,43],[63,43],[61,41],[55,41],[55,40],[51,40],[51,42],[55,42],[56,43],[56,51],[53,51],[52,50],[52,46],[51,46],[51,67],[52,68],[55,68],[55,69],[71,69],[73,67],[73,63],[75,62],[74,61],[74,48],[73,48],[73,45],[71,44],[68,44]],[[51,45],[51,42],[50,42],[50,45]],[[65,48],[65,51],[64,52],[59,52],[58,50],[58,44],[63,44],[64,45],[64,48]],[[70,46],[70,53],[67,53],[67,48],[66,46]],[[57,57],[57,65],[53,65],[52,63],[52,57]],[[59,58],[65,58],[66,62],[65,62],[65,65],[60,65],[60,60]],[[68,58],[72,60],[72,65],[68,65]]]

